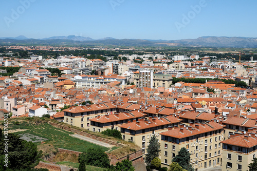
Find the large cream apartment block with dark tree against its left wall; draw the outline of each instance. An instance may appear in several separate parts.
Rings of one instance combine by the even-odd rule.
[[[180,148],[188,149],[193,168],[205,170],[221,165],[223,125],[216,120],[169,128],[161,135],[161,165],[168,167]]]

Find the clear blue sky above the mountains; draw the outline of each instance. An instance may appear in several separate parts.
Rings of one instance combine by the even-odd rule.
[[[1,0],[0,37],[257,37],[256,7],[254,0]]]

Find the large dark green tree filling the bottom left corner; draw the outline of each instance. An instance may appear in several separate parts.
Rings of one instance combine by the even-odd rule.
[[[38,152],[38,148],[34,143],[20,139],[20,136],[8,134],[8,168],[11,170],[22,170],[33,168],[38,165],[42,156],[42,151]],[[4,163],[5,143],[4,136],[0,139],[0,170],[6,170]]]

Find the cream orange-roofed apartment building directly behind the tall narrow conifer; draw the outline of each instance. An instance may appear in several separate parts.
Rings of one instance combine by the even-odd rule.
[[[173,117],[174,118],[174,117]],[[160,141],[161,132],[167,131],[169,126],[179,124],[179,119],[169,120],[165,117],[149,117],[148,120],[144,118],[128,120],[127,124],[121,125],[122,139],[132,141],[145,152],[145,147],[149,144],[149,140],[153,135]]]

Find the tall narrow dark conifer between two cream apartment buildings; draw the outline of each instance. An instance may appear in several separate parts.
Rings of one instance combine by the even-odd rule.
[[[154,158],[159,157],[159,153],[161,151],[160,150],[160,143],[158,143],[158,140],[155,137],[155,135],[153,135],[153,137],[151,137],[146,151],[147,151],[148,154],[145,155],[145,163],[147,165],[150,165],[151,161]]]

